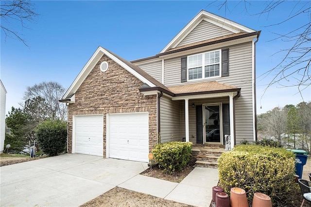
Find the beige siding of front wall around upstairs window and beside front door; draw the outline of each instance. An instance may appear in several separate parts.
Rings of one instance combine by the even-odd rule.
[[[224,48],[225,49],[225,48]],[[252,42],[242,43],[229,47],[229,76],[209,78],[200,81],[180,82],[181,57],[167,59],[164,62],[164,83],[166,86],[193,84],[206,81],[218,81],[220,83],[241,88],[241,96],[235,100],[235,125],[236,143],[240,144],[244,139],[253,141],[253,102],[252,102]],[[189,105],[192,102],[190,100]],[[192,108],[190,112],[193,113]],[[195,109],[194,115],[189,115],[190,140],[196,134]]]

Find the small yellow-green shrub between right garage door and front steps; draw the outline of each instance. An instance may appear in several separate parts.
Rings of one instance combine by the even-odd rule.
[[[192,143],[172,141],[155,145],[152,151],[155,161],[165,173],[181,171],[190,160]]]

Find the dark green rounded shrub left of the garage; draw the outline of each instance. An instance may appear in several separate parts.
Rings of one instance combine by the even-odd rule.
[[[65,121],[43,121],[35,129],[36,139],[42,151],[55,156],[64,152],[67,140],[67,123]]]

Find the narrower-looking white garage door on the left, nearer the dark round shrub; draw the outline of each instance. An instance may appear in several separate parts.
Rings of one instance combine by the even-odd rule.
[[[75,153],[103,156],[103,115],[75,117]]]

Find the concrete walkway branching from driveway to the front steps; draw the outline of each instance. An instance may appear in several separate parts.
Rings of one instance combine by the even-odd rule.
[[[196,167],[180,183],[138,174],[119,187],[192,206],[209,207],[212,187],[217,184],[217,169]]]

